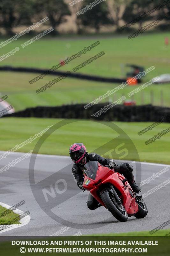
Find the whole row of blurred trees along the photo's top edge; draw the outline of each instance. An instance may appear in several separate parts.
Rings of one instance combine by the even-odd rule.
[[[56,33],[58,26],[67,20],[68,15],[71,15],[73,24],[77,26],[77,33],[89,27],[99,32],[101,26],[109,24],[120,30],[123,24],[129,23],[160,4],[160,0],[107,0],[99,4],[95,0],[83,0],[70,6],[71,2],[72,0],[0,0],[0,26],[5,29],[6,34],[12,34],[13,28],[17,26],[29,26],[48,17],[49,21],[46,24],[54,28],[52,33]],[[77,15],[78,11],[94,2],[95,6]],[[167,30],[170,23],[170,4],[138,20],[136,24],[141,28],[146,21],[152,22],[158,18],[162,18],[163,22],[157,28]]]

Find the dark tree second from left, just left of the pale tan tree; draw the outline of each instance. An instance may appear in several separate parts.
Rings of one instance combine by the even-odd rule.
[[[57,33],[56,26],[66,21],[65,15],[71,15],[68,5],[63,0],[36,0],[35,8],[41,13],[41,17],[44,14],[49,18],[55,33]]]

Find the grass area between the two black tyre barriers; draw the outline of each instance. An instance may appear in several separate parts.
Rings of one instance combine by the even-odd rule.
[[[85,80],[76,80],[66,78],[63,81],[48,88],[45,92],[37,94],[35,91],[55,76],[46,76],[43,80],[37,81],[35,84],[28,84],[28,81],[35,74],[1,72],[1,96],[8,95],[7,101],[15,108],[16,111],[36,106],[59,106],[71,103],[87,104],[99,96],[105,94],[108,90],[112,90],[119,84],[106,84],[98,82],[89,82]],[[141,84],[140,84],[141,85]],[[169,101],[169,84],[163,85],[164,106],[170,106]],[[151,91],[153,91],[153,105],[160,106],[162,85],[150,85],[143,90],[144,101],[141,99],[141,92],[136,93],[134,97],[129,97],[131,92],[137,87],[126,86],[125,88],[115,92],[111,96],[101,102],[114,102],[115,100],[126,96],[126,99],[133,99],[137,105],[151,103]]]

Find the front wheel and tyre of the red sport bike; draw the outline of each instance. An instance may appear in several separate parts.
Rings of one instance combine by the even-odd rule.
[[[107,207],[108,211],[119,221],[128,220],[128,214],[122,204],[118,204],[115,196],[110,191],[105,191],[101,194],[101,199]]]

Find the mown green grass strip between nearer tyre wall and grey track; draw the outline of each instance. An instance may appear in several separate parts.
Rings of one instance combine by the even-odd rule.
[[[22,143],[30,138],[30,136],[46,129],[48,125],[56,124],[61,119],[52,118],[1,118],[0,119],[0,150],[10,150],[15,145]],[[74,121],[73,123],[71,123]],[[146,128],[152,123],[127,123],[113,122],[120,127],[128,136],[120,132],[118,133],[107,127],[107,122],[93,122],[91,120],[69,120],[70,124],[66,124],[54,131],[45,142],[42,144],[37,153],[54,154],[54,155],[69,155],[69,147],[75,142],[83,142],[86,145],[87,151],[97,152],[104,157],[108,157],[107,151],[113,150],[113,158],[136,160],[145,162],[156,162],[170,164],[169,160],[169,144],[170,136],[165,134],[154,143],[145,145],[144,142],[152,138],[158,132],[170,127],[170,124],[162,123],[154,127],[152,131],[146,132],[139,136],[137,132]],[[106,125],[105,125],[106,124]],[[115,139],[113,145],[108,143]],[[131,148],[130,140],[137,148],[137,153]],[[33,140],[24,147],[20,148],[20,152],[28,152],[34,148],[38,139]],[[128,154],[122,158],[124,153],[116,151],[116,146],[125,143],[125,148],[128,149]],[[100,148],[101,147],[101,148]],[[100,148],[100,149],[98,149]],[[122,149],[122,148],[121,148]]]

